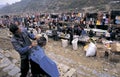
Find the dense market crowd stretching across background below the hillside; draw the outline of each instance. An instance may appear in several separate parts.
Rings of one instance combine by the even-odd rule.
[[[113,34],[113,28],[110,24],[114,23],[110,20],[108,13],[62,13],[62,14],[27,14],[27,15],[3,15],[0,18],[0,27],[9,28],[10,24],[15,23],[20,27],[25,27],[27,30],[32,28],[35,34],[44,31],[43,25],[49,30],[53,30],[53,35],[57,38],[58,32],[64,34],[70,34],[71,32],[75,35],[81,35],[85,33],[85,28],[98,28],[108,30],[109,34]],[[91,31],[92,32],[92,31]],[[90,34],[91,34],[90,32]],[[89,35],[89,36],[93,36]],[[55,38],[54,38],[55,39]],[[55,39],[56,40],[56,39]]]

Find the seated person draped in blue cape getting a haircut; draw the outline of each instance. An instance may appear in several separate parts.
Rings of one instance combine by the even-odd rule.
[[[40,37],[37,40],[38,45],[33,48],[30,59],[32,60],[31,68],[35,77],[59,77],[57,65],[46,56],[43,46],[46,45],[46,38]]]

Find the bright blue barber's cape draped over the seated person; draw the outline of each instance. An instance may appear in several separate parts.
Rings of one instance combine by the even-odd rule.
[[[32,49],[30,59],[39,64],[39,66],[51,77],[59,77],[60,74],[56,63],[45,55],[43,48],[40,46]]]

